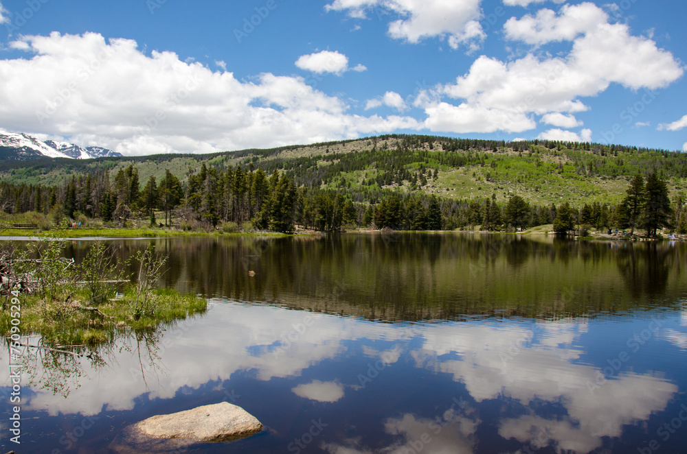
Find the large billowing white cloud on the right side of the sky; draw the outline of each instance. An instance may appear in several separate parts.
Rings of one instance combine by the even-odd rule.
[[[632,90],[656,89],[682,77],[684,69],[672,53],[648,38],[632,36],[627,25],[609,23],[605,12],[595,5],[578,6],[561,10],[553,32],[541,32],[544,18],[538,15],[530,17],[536,25],[509,35],[529,43],[574,39],[567,56],[540,58],[528,53],[510,62],[480,56],[455,83],[420,93],[416,106],[425,108],[425,126],[435,132],[521,132],[535,127],[534,114],[543,115],[545,123],[553,121],[554,126],[570,128],[580,126],[570,114],[588,109],[581,98],[595,97],[611,84]],[[587,19],[578,20],[579,16],[596,17],[600,23],[592,27]],[[569,24],[564,26],[566,21]],[[463,102],[453,106],[443,97]],[[480,122],[474,121],[475,116]]]

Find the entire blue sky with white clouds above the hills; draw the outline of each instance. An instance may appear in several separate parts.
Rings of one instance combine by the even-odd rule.
[[[687,150],[687,3],[0,0],[0,129],[124,154],[393,132]]]

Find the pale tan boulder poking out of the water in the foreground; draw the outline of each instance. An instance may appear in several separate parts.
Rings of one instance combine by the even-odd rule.
[[[110,447],[117,453],[164,453],[196,443],[239,440],[261,430],[255,416],[221,402],[137,422],[126,427]]]

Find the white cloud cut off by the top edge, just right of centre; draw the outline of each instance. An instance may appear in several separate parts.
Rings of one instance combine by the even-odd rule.
[[[402,19],[389,24],[392,38],[419,43],[425,38],[447,39],[453,49],[468,44],[471,49],[484,38],[480,25],[482,0],[335,0],[327,11],[346,11],[354,18],[365,18],[370,8],[383,8]]]

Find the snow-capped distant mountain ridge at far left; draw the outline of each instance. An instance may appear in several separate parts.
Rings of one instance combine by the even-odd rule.
[[[81,147],[74,143],[41,141],[29,134],[0,133],[0,160],[38,158],[94,159],[120,157],[122,154],[103,147]]]

